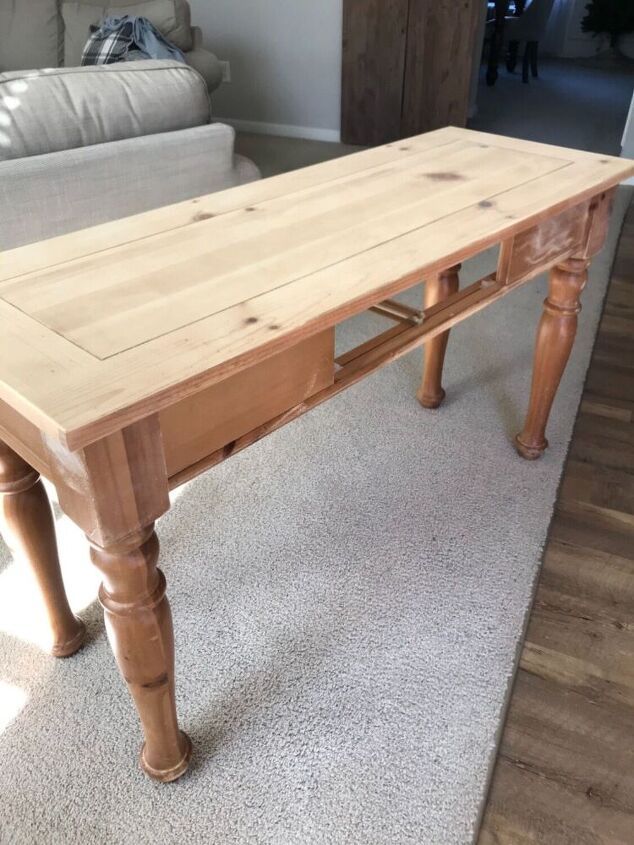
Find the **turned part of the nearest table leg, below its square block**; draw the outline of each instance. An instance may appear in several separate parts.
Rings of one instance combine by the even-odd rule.
[[[192,748],[176,717],[174,634],[158,553],[153,525],[106,549],[91,545],[104,579],[99,600],[108,639],[143,726],[141,766],[167,782],[187,769]]]

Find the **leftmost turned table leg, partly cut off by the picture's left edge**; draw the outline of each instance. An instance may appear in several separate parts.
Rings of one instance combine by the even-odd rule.
[[[86,628],[64,591],[55,524],[39,473],[0,441],[0,527],[7,545],[27,561],[39,586],[51,631],[51,653],[81,648]]]

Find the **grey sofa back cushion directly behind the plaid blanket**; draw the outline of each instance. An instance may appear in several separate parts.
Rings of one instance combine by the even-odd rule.
[[[64,64],[75,67],[90,34],[90,27],[114,15],[147,18],[184,52],[192,48],[192,28],[187,0],[63,0]]]

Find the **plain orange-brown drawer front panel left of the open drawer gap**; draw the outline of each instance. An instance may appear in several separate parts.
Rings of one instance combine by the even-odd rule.
[[[169,477],[334,380],[334,329],[301,341],[159,414]]]

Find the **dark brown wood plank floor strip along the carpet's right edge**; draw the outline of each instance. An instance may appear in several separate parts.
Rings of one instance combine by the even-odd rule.
[[[634,843],[634,207],[479,845]]]

